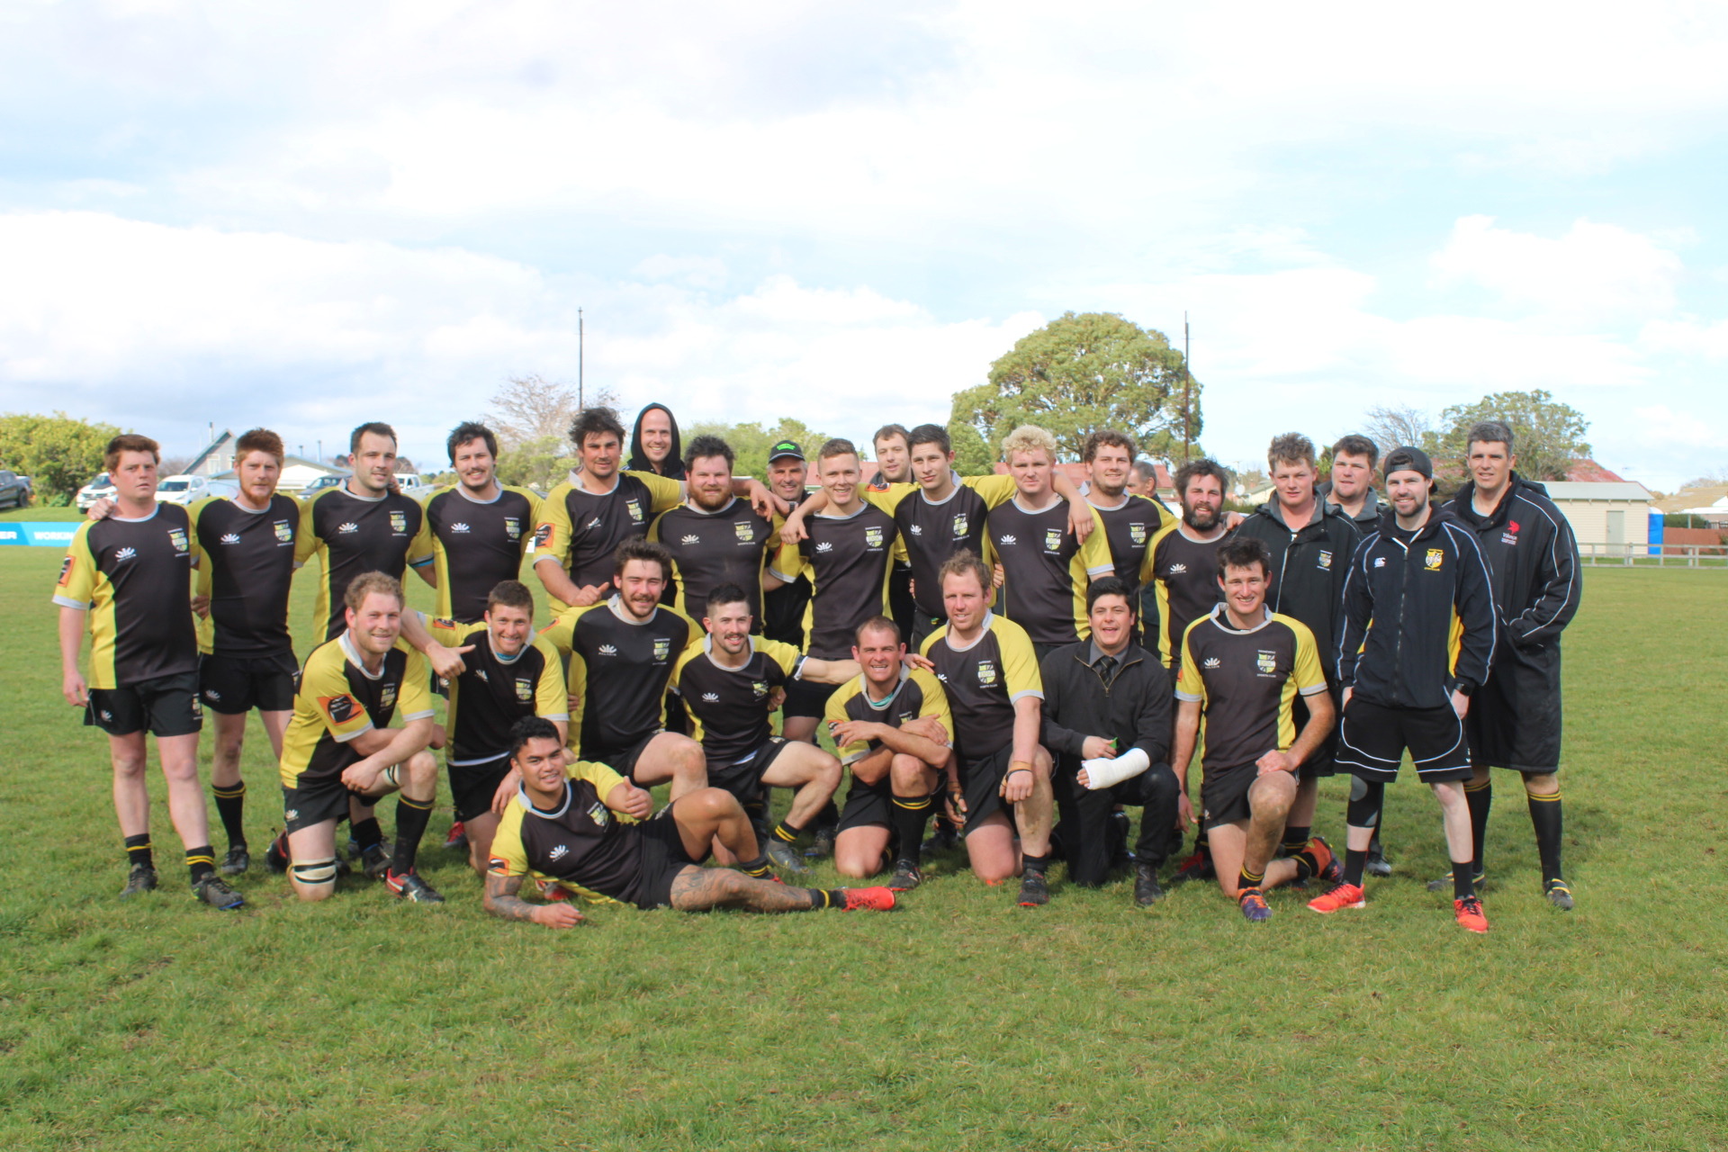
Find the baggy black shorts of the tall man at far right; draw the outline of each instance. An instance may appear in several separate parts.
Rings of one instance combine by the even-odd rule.
[[[1560,770],[1560,644],[1514,648],[1503,637],[1488,682],[1464,715],[1476,767]]]

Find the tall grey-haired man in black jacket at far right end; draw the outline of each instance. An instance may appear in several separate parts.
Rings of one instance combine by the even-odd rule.
[[[1471,805],[1474,881],[1483,883],[1483,832],[1493,798],[1488,767],[1524,775],[1548,902],[1572,907],[1560,872],[1560,632],[1578,611],[1581,572],[1572,527],[1547,489],[1512,468],[1512,428],[1483,421],[1467,437],[1471,480],[1446,506],[1472,532],[1493,573],[1500,644],[1488,682],[1465,717],[1474,779]],[[1445,881],[1434,881],[1445,888]],[[1431,884],[1433,888],[1433,884]]]

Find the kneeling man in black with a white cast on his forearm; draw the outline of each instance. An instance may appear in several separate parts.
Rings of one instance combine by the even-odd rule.
[[[1170,751],[1170,674],[1134,642],[1135,596],[1116,577],[1087,587],[1092,637],[1049,653],[1044,675],[1042,744],[1056,756],[1051,788],[1063,820],[1068,879],[1097,888],[1109,870],[1109,813],[1142,805],[1135,845],[1134,900],[1149,905],[1163,889],[1170,829],[1177,822],[1177,777]]]

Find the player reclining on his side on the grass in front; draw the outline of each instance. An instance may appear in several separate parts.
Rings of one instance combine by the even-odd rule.
[[[558,729],[541,717],[517,722],[510,760],[522,774],[522,789],[492,838],[486,874],[486,910],[492,915],[574,927],[582,914],[560,903],[570,893],[681,912],[893,907],[886,888],[781,884],[731,793],[698,788],[655,813],[653,796],[607,765],[577,760],[565,767]],[[743,862],[741,872],[702,867],[715,839]],[[529,872],[553,881],[548,891],[555,903],[534,905],[517,895]]]

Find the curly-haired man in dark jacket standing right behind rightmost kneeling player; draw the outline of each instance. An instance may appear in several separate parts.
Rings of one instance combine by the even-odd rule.
[[[1315,491],[1320,473],[1315,468],[1313,440],[1296,432],[1274,439],[1267,449],[1267,472],[1272,475],[1272,499],[1256,508],[1236,534],[1265,542],[1272,556],[1267,608],[1301,620],[1313,632],[1325,684],[1336,703],[1337,637],[1343,627],[1339,604],[1344,598],[1344,573],[1350,572],[1350,558],[1362,537],[1350,516],[1337,504],[1320,499]],[[1296,725],[1306,722],[1308,703],[1298,696]],[[1296,798],[1284,827],[1286,857],[1308,848],[1320,777],[1336,772],[1336,729],[1327,729],[1325,739],[1301,763]]]

